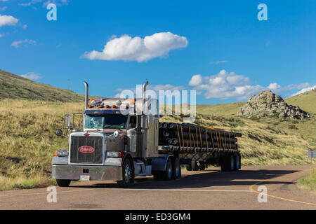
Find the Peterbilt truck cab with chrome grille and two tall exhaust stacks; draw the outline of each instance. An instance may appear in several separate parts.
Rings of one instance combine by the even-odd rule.
[[[135,176],[171,179],[180,176],[176,154],[159,155],[159,115],[156,99],[96,98],[85,94],[83,127],[74,129],[75,114],[66,114],[69,148],[56,151],[52,178],[58,186],[71,181],[117,181],[123,187]],[[60,130],[58,131],[60,134]]]

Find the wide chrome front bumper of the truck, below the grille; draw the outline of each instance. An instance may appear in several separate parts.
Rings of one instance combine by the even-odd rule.
[[[90,176],[91,181],[121,181],[121,167],[53,165],[52,179],[80,180],[81,175]]]

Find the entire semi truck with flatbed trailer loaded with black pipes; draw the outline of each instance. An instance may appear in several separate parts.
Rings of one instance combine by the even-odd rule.
[[[84,113],[65,114],[69,148],[55,151],[52,160],[52,178],[58,186],[95,180],[117,181],[126,188],[136,176],[179,179],[183,166],[189,171],[209,165],[223,172],[241,168],[237,137],[242,134],[192,123],[159,122],[157,99],[145,97],[147,81],[142,97],[134,99],[89,99],[88,83],[84,85]],[[74,125],[78,116],[79,128]],[[56,134],[62,135],[62,130]]]

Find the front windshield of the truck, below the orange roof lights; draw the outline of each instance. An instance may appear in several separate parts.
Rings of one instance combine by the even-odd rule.
[[[100,114],[87,114],[85,128],[98,128],[98,129],[124,129],[126,127],[127,116],[121,115],[100,115]]]

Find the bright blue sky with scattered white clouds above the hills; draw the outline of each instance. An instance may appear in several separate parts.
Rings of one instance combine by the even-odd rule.
[[[70,79],[79,93],[86,80],[101,96],[147,79],[154,90],[197,90],[197,104],[316,84],[316,1],[51,2],[57,21],[47,1],[0,0],[0,69],[62,88]]]

